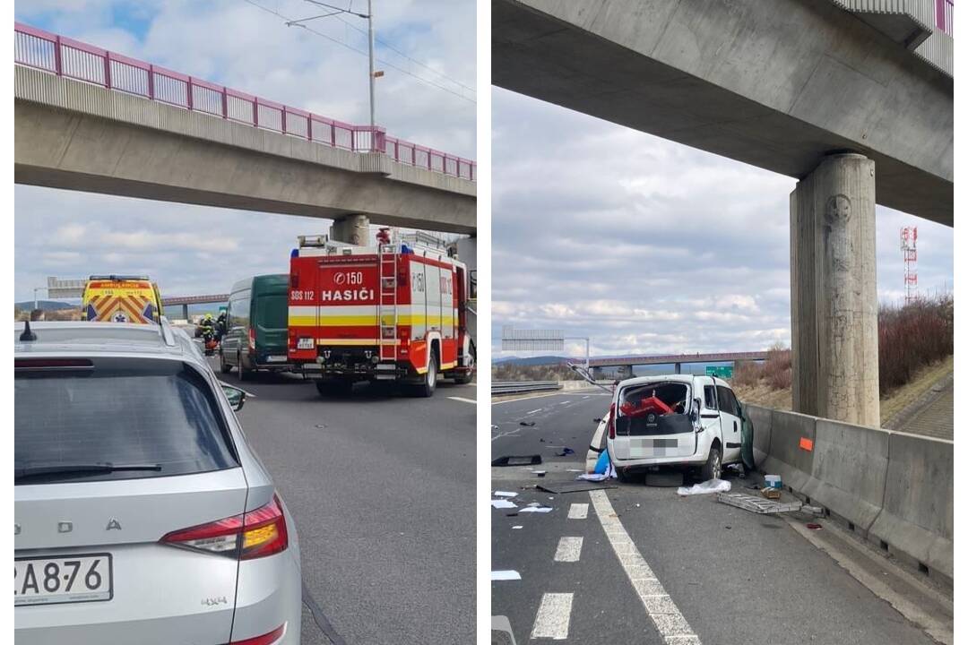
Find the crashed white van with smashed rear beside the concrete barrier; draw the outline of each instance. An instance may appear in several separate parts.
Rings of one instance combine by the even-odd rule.
[[[671,374],[621,381],[608,416],[608,452],[620,481],[638,469],[701,469],[703,481],[742,463],[740,403],[714,376]]]

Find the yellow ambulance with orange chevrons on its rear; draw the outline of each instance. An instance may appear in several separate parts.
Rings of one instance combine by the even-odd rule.
[[[148,324],[161,322],[158,285],[145,276],[91,276],[81,301],[86,320]]]

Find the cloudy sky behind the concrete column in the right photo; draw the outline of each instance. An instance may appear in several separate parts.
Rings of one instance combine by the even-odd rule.
[[[496,358],[529,355],[504,325],[592,355],[789,346],[794,179],[498,88],[492,114]],[[878,207],[880,299],[903,297],[903,225],[923,292],[953,290],[953,229]]]

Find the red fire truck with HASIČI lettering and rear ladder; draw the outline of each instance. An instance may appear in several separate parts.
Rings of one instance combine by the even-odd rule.
[[[439,374],[473,377],[468,271],[447,249],[388,229],[375,247],[301,236],[289,267],[288,358],[319,394],[397,381],[432,396]]]

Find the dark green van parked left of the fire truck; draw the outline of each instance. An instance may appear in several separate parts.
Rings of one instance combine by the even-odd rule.
[[[219,364],[227,374],[237,367],[239,380],[256,369],[282,371],[288,363],[289,275],[239,280],[228,296],[226,334]]]

